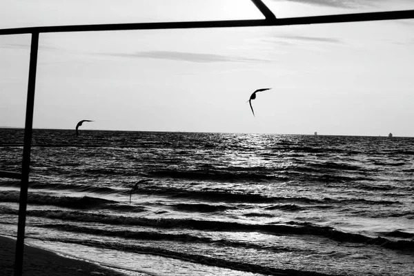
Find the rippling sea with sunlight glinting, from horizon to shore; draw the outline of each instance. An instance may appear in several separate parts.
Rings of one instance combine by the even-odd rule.
[[[0,170],[22,155],[0,129]],[[412,137],[34,129],[25,242],[125,275],[413,275],[413,192]]]

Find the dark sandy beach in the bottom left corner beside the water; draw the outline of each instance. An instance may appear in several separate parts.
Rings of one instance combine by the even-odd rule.
[[[0,271],[1,275],[14,275],[14,252],[16,241],[9,237],[0,236]],[[114,275],[124,276],[115,270],[90,262],[57,255],[53,252],[25,246],[23,259],[23,275]]]

